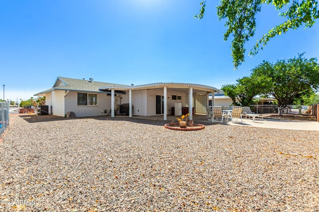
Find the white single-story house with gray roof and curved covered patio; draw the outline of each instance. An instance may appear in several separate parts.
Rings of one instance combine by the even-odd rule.
[[[121,105],[128,105],[130,117],[181,115],[180,113],[206,114],[209,95],[214,101],[217,88],[189,83],[152,83],[122,85],[94,81],[93,78],[73,79],[57,77],[53,86],[34,94],[45,96],[49,114],[65,116],[74,112],[76,117],[111,117],[121,114]],[[176,104],[175,104],[176,103]],[[176,108],[176,109],[175,109]]]

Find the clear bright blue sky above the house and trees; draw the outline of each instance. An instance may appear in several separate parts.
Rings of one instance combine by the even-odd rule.
[[[57,76],[118,84],[198,83],[220,88],[250,74],[263,60],[304,53],[319,58],[319,24],[278,36],[257,56],[257,39],[284,20],[272,6],[257,16],[246,61],[233,70],[231,40],[207,1],[200,0],[0,0],[0,83],[5,99],[26,100],[52,87]],[[2,87],[1,87],[2,88]],[[3,88],[2,88],[3,89]],[[3,98],[3,91],[0,98]]]

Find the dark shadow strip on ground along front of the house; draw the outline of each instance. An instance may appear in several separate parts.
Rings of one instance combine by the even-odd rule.
[[[130,118],[126,116],[119,116],[111,118],[110,116],[92,116],[92,117],[78,117],[78,118],[64,118],[60,116],[53,116],[53,115],[19,115],[22,119],[27,121],[28,123],[38,123],[38,122],[52,122],[52,121],[66,121],[66,120],[81,120],[81,119],[95,119],[99,121],[127,121],[127,122],[134,122],[139,124],[148,124],[148,125],[157,125],[157,126],[164,126],[171,121],[164,121],[164,120],[151,120],[151,119],[142,119],[142,118]],[[174,121],[177,123],[177,120]],[[202,124],[205,126],[214,125],[216,123],[207,123],[201,121],[194,121],[194,124]]]

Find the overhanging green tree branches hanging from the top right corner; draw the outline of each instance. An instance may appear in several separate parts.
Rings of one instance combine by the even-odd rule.
[[[257,40],[249,53],[251,56],[256,55],[259,49],[263,49],[276,35],[286,33],[290,29],[297,29],[304,24],[305,28],[312,27],[319,18],[318,0],[302,0],[301,2],[298,0],[221,0],[220,5],[217,6],[217,15],[219,20],[227,19],[224,40],[233,35],[231,55],[234,69],[245,61],[244,44],[255,34],[255,17],[261,11],[262,4],[272,4],[277,10],[287,7],[286,11],[280,13],[287,20],[270,29],[260,40]],[[197,19],[202,19],[204,16],[206,0],[201,0],[200,6],[198,14],[194,15]]]

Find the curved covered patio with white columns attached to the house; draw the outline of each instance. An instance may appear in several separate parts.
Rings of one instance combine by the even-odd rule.
[[[208,96],[211,95],[212,102],[214,102],[214,92],[218,89],[201,84],[159,82],[144,85],[132,84],[131,86],[111,85],[100,87],[99,90],[111,91],[111,117],[116,115],[115,93],[121,91],[125,92],[120,97],[123,99],[122,103],[130,105],[129,117],[134,115],[156,116],[160,120],[173,119],[173,117],[168,117],[173,114],[171,111],[173,104],[181,103],[184,108],[187,108],[189,119],[193,120],[196,113],[206,114],[205,107],[209,102]]]

